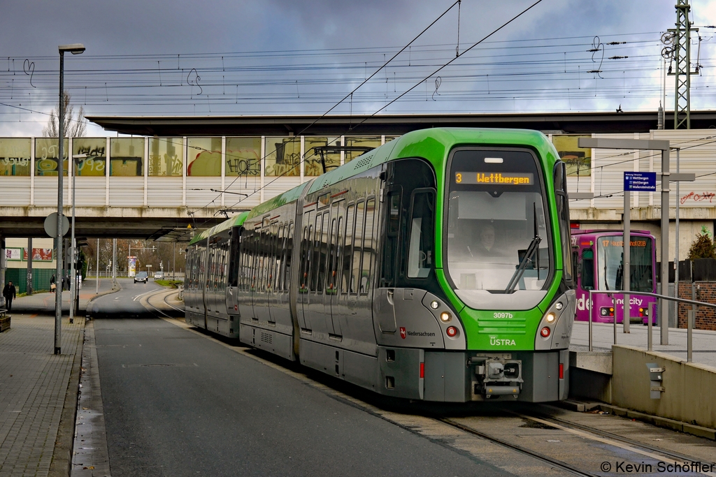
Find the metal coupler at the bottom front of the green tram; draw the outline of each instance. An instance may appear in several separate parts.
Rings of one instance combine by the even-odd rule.
[[[500,395],[517,398],[522,390],[522,361],[509,353],[477,355],[468,360],[474,369],[473,394],[490,399]]]

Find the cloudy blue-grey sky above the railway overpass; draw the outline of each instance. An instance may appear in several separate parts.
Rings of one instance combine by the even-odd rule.
[[[65,88],[89,116],[634,111],[662,100],[673,0],[453,1],[3,0],[0,137],[42,134],[57,45],[69,43],[87,48],[65,56]],[[693,0],[691,19],[692,109],[714,109],[716,0]]]

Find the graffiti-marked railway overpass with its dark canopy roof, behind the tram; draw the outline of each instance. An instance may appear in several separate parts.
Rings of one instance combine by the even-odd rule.
[[[63,160],[64,214],[71,214],[74,176],[77,237],[188,240],[196,229],[311,180],[323,172],[324,163],[332,169],[359,155],[327,151],[321,161],[315,147],[377,147],[423,127],[543,130],[571,164],[570,191],[596,195],[571,203],[571,218],[582,228],[619,224],[623,172],[658,171],[660,164],[659,157],[645,151],[579,150],[579,135],[669,139],[682,148],[681,172],[697,176],[713,172],[716,154],[714,129],[655,130],[657,115],[643,112],[326,117],[312,125],[319,117],[89,119],[107,130],[162,136],[65,139],[65,151],[87,155],[76,159],[69,174],[67,157]],[[358,129],[351,129],[359,122]],[[671,124],[668,114],[665,124]],[[716,113],[692,112],[692,124],[712,127]],[[294,135],[308,126],[310,134]],[[46,236],[44,219],[57,212],[57,145],[57,139],[0,137],[0,237]],[[674,152],[672,170],[675,157]],[[713,230],[716,175],[705,175],[689,187],[681,191],[682,220]],[[653,193],[634,194],[632,220],[642,225],[633,227],[656,231],[658,202]],[[672,195],[672,215],[675,205]]]

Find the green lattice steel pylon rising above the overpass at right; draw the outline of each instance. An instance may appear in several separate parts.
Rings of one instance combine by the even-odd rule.
[[[689,0],[677,0],[676,29],[668,30],[672,34],[672,57],[676,63],[676,71],[669,71],[669,74],[676,77],[674,82],[676,86],[674,129],[691,129],[691,75],[697,74],[697,72],[691,71],[691,32],[698,31],[698,29],[691,28],[690,9]],[[669,70],[671,70],[670,67]]]

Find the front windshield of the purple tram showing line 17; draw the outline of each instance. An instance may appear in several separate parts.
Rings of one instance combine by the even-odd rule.
[[[599,237],[597,240],[597,274],[599,290],[624,290],[624,241],[621,235]],[[629,290],[654,292],[654,255],[652,238],[632,235],[629,247]]]

